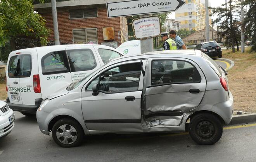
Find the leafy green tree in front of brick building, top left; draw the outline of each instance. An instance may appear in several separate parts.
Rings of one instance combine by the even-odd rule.
[[[44,0],[39,0],[44,2]],[[15,49],[16,36],[35,36],[41,44],[47,44],[49,29],[45,20],[33,10],[33,0],[0,1],[0,46],[10,43]]]

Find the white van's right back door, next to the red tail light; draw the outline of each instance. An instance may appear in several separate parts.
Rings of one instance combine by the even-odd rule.
[[[19,86],[22,96],[22,104],[35,105],[36,99],[42,99],[41,92],[35,92],[34,90],[33,77],[39,74],[36,49],[33,49],[33,51],[22,52],[19,73]]]

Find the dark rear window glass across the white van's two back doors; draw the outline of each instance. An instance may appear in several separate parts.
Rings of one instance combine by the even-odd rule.
[[[9,78],[29,78],[32,70],[31,55],[12,56],[8,65]]]

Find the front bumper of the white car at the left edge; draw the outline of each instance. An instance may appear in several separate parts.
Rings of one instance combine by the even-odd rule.
[[[8,135],[14,128],[14,121],[12,121],[12,123],[9,121],[9,117],[12,116],[12,114],[12,109],[9,109],[7,114],[0,116],[0,138],[2,136]]]

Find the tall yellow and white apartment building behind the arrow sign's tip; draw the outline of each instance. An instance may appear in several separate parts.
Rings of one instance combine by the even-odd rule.
[[[185,0],[186,4],[176,10],[175,17],[180,21],[180,28],[199,31],[205,27],[205,0]],[[209,4],[210,6],[210,4]],[[211,10],[209,10],[209,14]],[[211,24],[211,19],[209,19]]]

